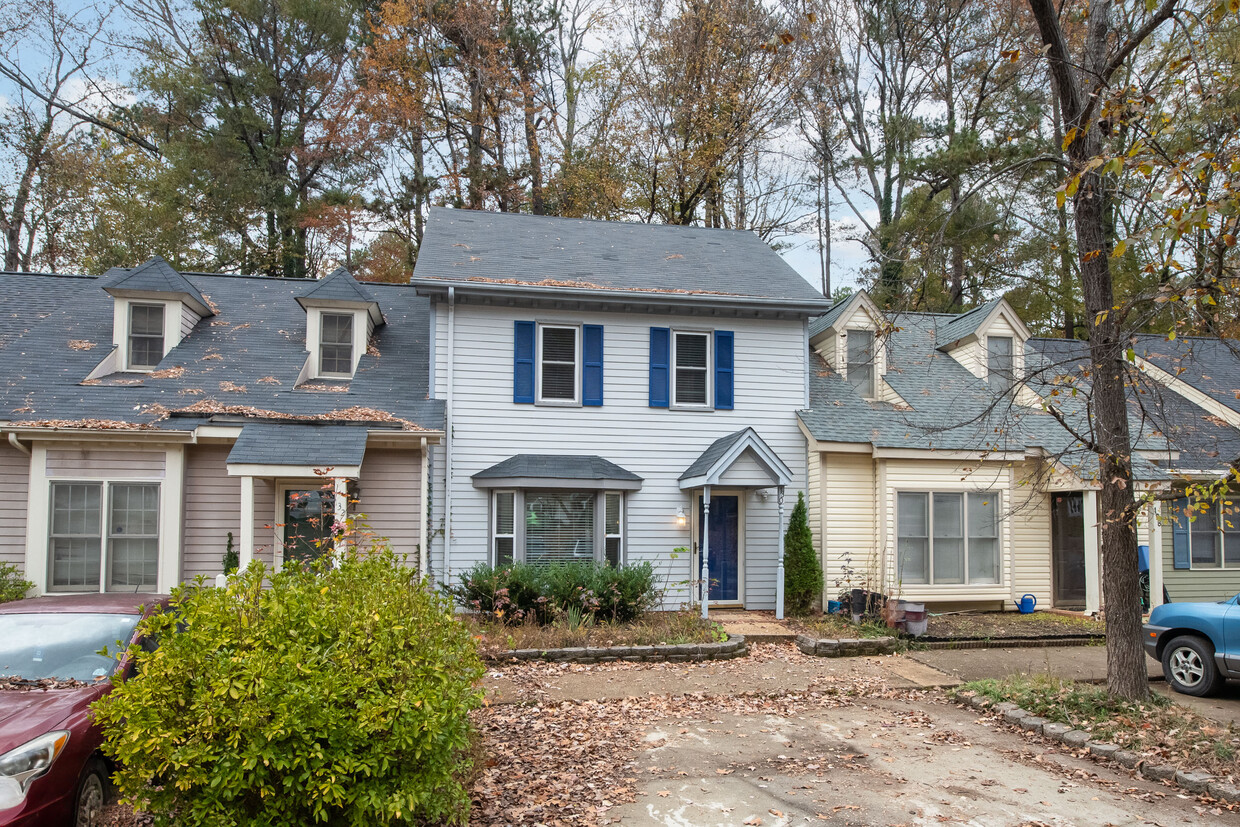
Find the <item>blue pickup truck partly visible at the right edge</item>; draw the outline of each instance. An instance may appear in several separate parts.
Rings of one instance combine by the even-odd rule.
[[[1149,613],[1146,653],[1176,692],[1209,696],[1240,678],[1240,595],[1221,603],[1168,603]]]

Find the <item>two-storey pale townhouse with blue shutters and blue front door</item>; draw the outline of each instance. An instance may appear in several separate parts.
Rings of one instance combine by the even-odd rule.
[[[651,563],[680,605],[773,609],[806,489],[808,319],[823,300],[748,232],[432,210],[432,568]],[[791,498],[791,502],[789,501]]]

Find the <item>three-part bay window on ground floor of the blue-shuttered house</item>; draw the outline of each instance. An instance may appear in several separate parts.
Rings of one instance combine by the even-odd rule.
[[[526,489],[491,498],[495,563],[610,563],[624,555],[624,496],[619,491]]]

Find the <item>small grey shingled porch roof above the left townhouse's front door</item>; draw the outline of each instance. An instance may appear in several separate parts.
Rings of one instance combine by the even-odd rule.
[[[252,423],[228,454],[229,465],[361,465],[365,425]]]

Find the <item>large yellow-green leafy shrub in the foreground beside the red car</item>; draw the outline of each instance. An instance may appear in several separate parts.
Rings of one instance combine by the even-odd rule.
[[[386,548],[176,589],[94,705],[118,790],[159,825],[464,823],[482,667],[450,609]]]

